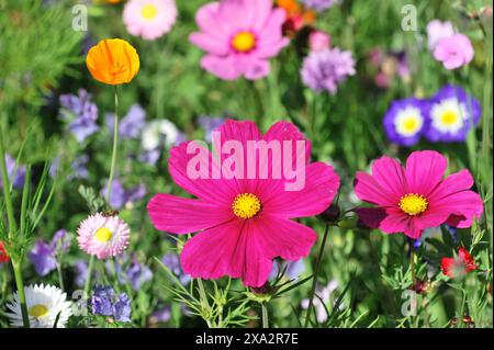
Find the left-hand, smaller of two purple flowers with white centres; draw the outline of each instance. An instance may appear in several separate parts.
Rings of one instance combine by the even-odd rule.
[[[388,137],[403,146],[418,143],[424,129],[426,104],[417,99],[393,101],[383,120]]]

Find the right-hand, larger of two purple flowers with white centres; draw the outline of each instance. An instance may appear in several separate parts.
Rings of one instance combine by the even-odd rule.
[[[446,84],[427,104],[424,135],[430,142],[464,142],[481,114],[479,101],[462,88]]]

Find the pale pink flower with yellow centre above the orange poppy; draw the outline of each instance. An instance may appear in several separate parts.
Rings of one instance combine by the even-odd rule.
[[[176,19],[175,0],[131,0],[123,10],[127,32],[148,41],[168,33]]]

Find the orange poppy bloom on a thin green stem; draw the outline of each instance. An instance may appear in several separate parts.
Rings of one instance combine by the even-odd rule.
[[[134,79],[139,71],[139,56],[124,39],[109,38],[89,49],[86,66],[96,80],[117,86]]]

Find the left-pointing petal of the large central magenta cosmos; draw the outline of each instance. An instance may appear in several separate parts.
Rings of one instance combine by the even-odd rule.
[[[164,193],[156,194],[149,201],[147,212],[157,229],[173,234],[195,233],[234,217],[229,206]]]

